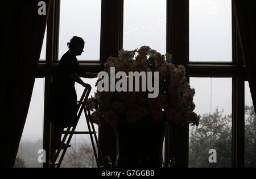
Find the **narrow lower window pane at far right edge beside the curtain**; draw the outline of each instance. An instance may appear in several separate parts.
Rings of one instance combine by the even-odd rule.
[[[245,82],[245,167],[256,167],[256,117],[248,82]]]

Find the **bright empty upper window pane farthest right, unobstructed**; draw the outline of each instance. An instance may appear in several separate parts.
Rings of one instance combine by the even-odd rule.
[[[189,1],[189,60],[232,61],[232,1]]]

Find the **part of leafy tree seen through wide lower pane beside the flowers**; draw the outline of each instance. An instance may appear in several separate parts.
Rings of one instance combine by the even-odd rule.
[[[231,167],[232,166],[232,115],[223,116],[216,109],[213,114],[201,116],[200,126],[192,127],[189,143],[189,166]],[[209,163],[209,151],[217,152],[217,163]]]

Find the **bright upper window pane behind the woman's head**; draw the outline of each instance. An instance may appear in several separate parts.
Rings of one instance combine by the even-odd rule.
[[[61,0],[59,60],[73,36],[85,41],[78,60],[100,60],[101,0]]]

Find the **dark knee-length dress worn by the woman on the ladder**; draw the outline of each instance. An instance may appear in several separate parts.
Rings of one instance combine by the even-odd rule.
[[[69,77],[72,72],[76,72],[79,77],[85,74],[76,57],[68,51],[60,59],[59,69],[49,92],[49,122],[62,127],[68,127],[76,112],[75,81]]]

